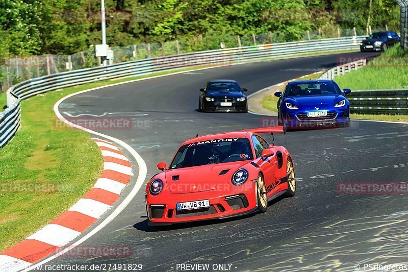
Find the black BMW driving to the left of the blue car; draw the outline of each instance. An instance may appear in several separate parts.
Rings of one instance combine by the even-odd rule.
[[[248,112],[247,91],[234,80],[211,80],[200,89],[198,110],[202,112]]]

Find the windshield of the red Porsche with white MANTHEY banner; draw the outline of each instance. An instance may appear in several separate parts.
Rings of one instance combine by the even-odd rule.
[[[216,139],[183,145],[177,151],[170,169],[251,159],[248,139]]]

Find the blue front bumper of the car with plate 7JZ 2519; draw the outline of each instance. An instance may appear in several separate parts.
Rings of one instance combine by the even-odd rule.
[[[326,117],[307,117],[307,111],[288,110],[283,119],[292,129],[337,128],[350,121],[349,109],[327,110]]]

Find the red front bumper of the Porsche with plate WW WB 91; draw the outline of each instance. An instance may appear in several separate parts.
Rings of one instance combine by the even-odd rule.
[[[247,184],[247,186],[244,186]],[[242,190],[218,193],[215,190],[168,195],[146,195],[148,224],[171,225],[182,222],[223,219],[244,215],[258,210],[257,183],[247,181]],[[237,186],[237,188],[240,186]],[[160,196],[160,197],[159,197]],[[176,204],[181,202],[209,200],[210,208],[177,211]]]

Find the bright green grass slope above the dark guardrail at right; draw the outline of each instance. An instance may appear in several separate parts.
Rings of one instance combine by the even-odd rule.
[[[393,64],[394,61],[397,64]],[[402,50],[400,46],[391,47],[386,53],[369,62],[366,67],[337,77],[335,81],[342,89],[406,89],[408,88],[408,51]]]

